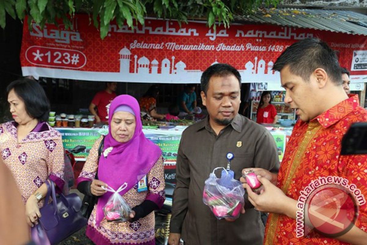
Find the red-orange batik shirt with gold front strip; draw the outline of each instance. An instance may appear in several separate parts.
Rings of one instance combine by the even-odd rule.
[[[367,199],[367,155],[341,156],[341,140],[354,122],[367,122],[367,111],[359,106],[358,96],[340,102],[310,122],[298,120],[280,165],[277,186],[298,200],[300,191],[319,177],[340,176],[355,184]],[[356,224],[367,231],[367,205],[359,206]],[[265,245],[348,244],[311,231],[296,237],[296,220],[270,214],[265,230]]]

